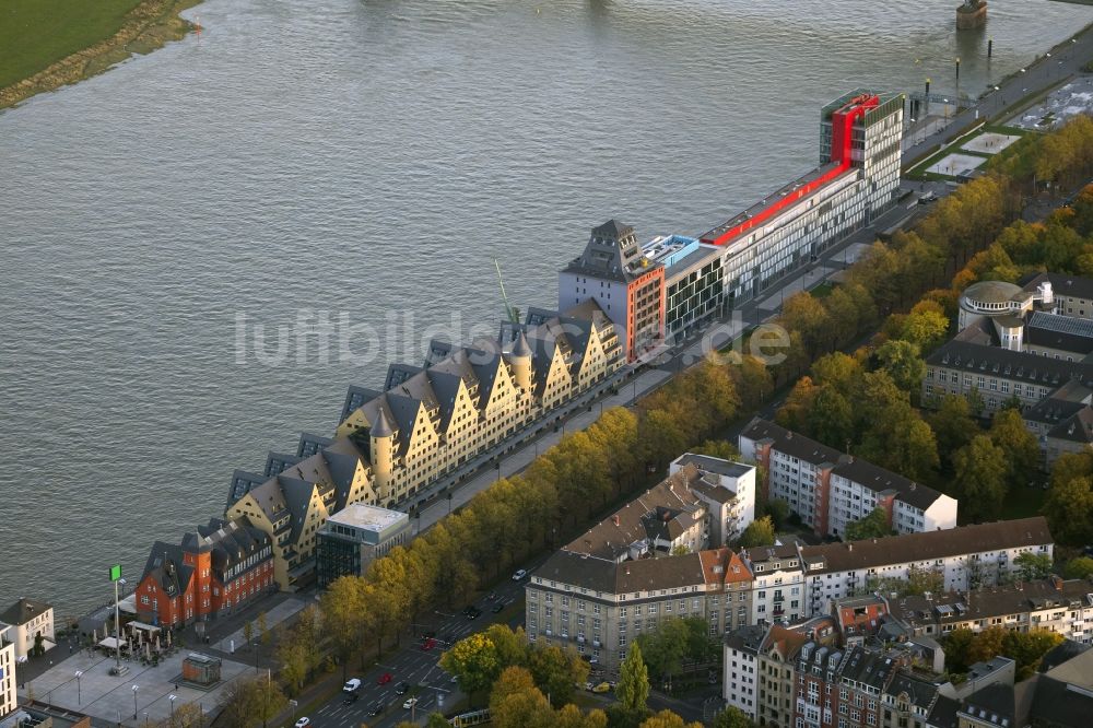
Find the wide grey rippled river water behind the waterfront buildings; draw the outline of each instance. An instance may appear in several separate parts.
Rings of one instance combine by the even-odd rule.
[[[592,225],[701,233],[814,166],[849,87],[960,56],[977,93],[1093,21],[955,4],[211,0],[0,113],[0,604],[105,602],[426,326],[495,331],[494,259],[551,306]]]

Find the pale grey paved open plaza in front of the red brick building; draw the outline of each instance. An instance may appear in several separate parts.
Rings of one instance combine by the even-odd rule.
[[[199,650],[179,649],[155,667],[122,659],[121,664],[129,668],[129,674],[116,677],[109,673],[115,664],[114,657],[97,651],[89,655],[86,650],[81,650],[22,685],[19,690],[20,703],[26,702],[33,694],[35,702],[84,713],[97,718],[96,724],[142,726],[146,720],[162,720],[171,715],[169,695],[177,696],[175,707],[197,703],[209,713],[223,700],[231,682],[240,674],[255,674],[252,666],[225,659],[221,666],[221,682],[212,690],[184,685],[180,683],[183,659],[192,651]],[[75,677],[78,670],[83,673],[79,679]],[[138,686],[136,720],[133,685]]]

